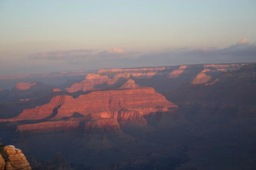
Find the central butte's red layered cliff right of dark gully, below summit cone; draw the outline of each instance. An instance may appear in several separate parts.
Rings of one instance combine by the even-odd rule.
[[[154,112],[156,107],[164,109],[177,106],[150,87],[95,91],[64,102],[58,109],[57,115],[52,119],[61,119],[63,116],[70,117],[74,112],[83,115],[97,113],[101,117],[110,118],[113,111],[122,108],[140,110],[144,115],[149,114],[148,111]],[[151,108],[151,110],[146,110],[146,108]]]

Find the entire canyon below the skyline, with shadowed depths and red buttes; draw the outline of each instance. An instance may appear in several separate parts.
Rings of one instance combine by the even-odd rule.
[[[0,91],[0,137],[21,148],[32,169],[256,165],[255,63],[78,73],[83,78],[61,85]]]

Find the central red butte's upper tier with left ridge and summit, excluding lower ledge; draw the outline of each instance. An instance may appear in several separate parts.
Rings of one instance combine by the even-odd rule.
[[[56,107],[59,108],[57,114],[51,118],[52,120],[71,117],[75,112],[82,115],[97,114],[102,118],[112,118],[114,112],[123,108],[137,110],[143,116],[153,112],[168,112],[168,108],[178,107],[157,93],[154,88],[140,87],[132,82],[129,80],[124,84],[128,89],[94,91],[80,95],[76,99],[68,95],[56,96],[45,105],[25,109],[17,117],[2,119],[0,122],[44,119],[51,116]]]

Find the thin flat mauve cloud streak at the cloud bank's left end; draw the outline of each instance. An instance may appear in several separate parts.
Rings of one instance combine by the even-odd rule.
[[[43,53],[34,53],[29,56],[31,59],[36,60],[60,60],[60,59],[77,59],[92,56],[91,49],[76,49],[76,50],[63,50],[63,51],[50,51]]]

